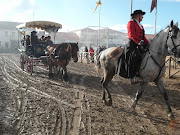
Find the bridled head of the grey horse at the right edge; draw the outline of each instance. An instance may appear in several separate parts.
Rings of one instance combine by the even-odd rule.
[[[178,23],[174,25],[173,20],[169,26],[166,44],[175,57],[180,57],[180,31],[178,28]]]

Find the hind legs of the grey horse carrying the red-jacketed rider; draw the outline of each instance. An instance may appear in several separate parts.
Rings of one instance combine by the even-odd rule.
[[[108,104],[111,105],[112,104],[112,99],[111,99],[111,94],[107,88],[109,82],[112,80],[113,76],[115,75],[114,70],[110,70],[110,71],[105,71],[104,70],[104,77],[103,77],[103,82],[102,82],[102,91],[103,91],[103,97],[102,99],[106,102],[106,95],[105,95],[105,90],[108,94]]]

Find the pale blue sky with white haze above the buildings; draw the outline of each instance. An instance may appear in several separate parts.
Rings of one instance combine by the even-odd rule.
[[[53,21],[62,24],[62,32],[91,26],[107,27],[127,32],[131,0],[0,0],[0,21]],[[132,0],[132,10],[146,12],[143,21],[146,34],[155,32],[155,9],[150,13],[152,0]],[[167,27],[171,20],[180,23],[180,0],[157,0],[156,32]]]

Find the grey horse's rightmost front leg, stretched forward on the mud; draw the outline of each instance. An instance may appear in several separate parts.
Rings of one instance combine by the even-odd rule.
[[[167,110],[167,111],[168,111],[168,117],[169,117],[171,120],[173,120],[173,119],[174,119],[174,115],[173,115],[173,113],[172,113],[172,110],[171,110],[171,107],[170,107],[170,104],[169,104],[169,101],[168,101],[168,95],[167,95],[166,90],[165,90],[165,88],[164,88],[163,79],[161,78],[161,79],[157,80],[155,83],[156,83],[158,89],[160,90],[160,92],[161,92],[161,94],[162,94],[162,96],[164,97],[164,100],[165,100],[165,102],[166,102],[166,106],[167,106],[167,109],[168,109],[168,110]]]

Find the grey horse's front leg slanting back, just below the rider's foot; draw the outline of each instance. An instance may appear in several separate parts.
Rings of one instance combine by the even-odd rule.
[[[140,88],[137,90],[137,93],[136,93],[136,97],[135,97],[135,100],[131,106],[131,110],[134,111],[135,108],[136,108],[136,104],[138,102],[138,100],[141,98],[142,96],[142,93],[144,92],[144,86],[146,85],[147,83],[145,83],[144,81],[140,83]]]

